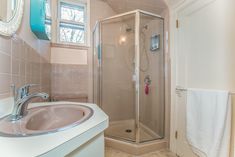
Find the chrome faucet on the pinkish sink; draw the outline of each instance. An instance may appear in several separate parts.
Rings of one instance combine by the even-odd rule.
[[[30,87],[38,86],[36,84],[27,84],[19,89],[15,89],[13,85],[13,95],[14,95],[14,109],[10,116],[11,121],[17,121],[27,114],[28,104],[33,98],[42,98],[47,100],[49,95],[47,93],[33,93],[29,94]]]

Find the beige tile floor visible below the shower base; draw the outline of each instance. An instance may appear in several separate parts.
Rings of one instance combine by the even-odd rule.
[[[176,157],[176,156],[173,153],[169,152],[168,150],[160,150],[157,152],[152,152],[141,156],[135,156],[121,152],[119,150],[110,147],[106,147],[105,157]]]

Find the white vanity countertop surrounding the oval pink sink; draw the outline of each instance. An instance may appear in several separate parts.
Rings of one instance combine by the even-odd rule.
[[[77,104],[93,109],[93,116],[73,128],[30,137],[1,137],[1,156],[4,157],[62,157],[83,145],[108,127],[108,116],[95,104],[53,102],[33,103],[29,108],[42,105]]]

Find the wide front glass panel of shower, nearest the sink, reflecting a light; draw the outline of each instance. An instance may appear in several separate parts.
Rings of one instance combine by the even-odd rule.
[[[102,21],[101,34],[101,106],[110,119],[105,135],[135,142],[135,14]]]

